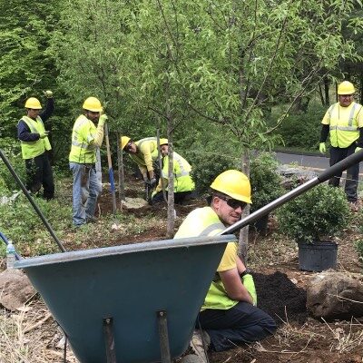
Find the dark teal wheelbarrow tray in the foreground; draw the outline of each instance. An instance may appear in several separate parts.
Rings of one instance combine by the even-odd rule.
[[[113,319],[117,362],[161,361],[158,311],[172,358],[188,347],[195,320],[234,235],[158,240],[15,262],[24,269],[82,363],[106,363],[103,330]]]

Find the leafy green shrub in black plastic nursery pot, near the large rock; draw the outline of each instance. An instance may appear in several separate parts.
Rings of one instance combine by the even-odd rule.
[[[338,244],[332,237],[347,227],[349,217],[344,191],[328,184],[320,184],[280,208],[280,231],[298,242],[299,270],[336,267]]]

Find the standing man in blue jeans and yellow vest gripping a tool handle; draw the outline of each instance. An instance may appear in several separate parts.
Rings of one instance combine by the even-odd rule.
[[[73,222],[75,227],[96,221],[94,211],[100,191],[95,170],[96,150],[103,143],[103,107],[95,97],[83,103],[83,114],[74,123],[69,166],[74,175]],[[97,127],[95,126],[97,123]]]

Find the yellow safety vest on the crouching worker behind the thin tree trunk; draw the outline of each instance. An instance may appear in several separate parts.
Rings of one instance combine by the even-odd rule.
[[[187,162],[179,153],[173,152],[174,192],[193,191],[194,182],[191,179],[191,164]],[[169,155],[163,158],[162,178],[169,179]]]

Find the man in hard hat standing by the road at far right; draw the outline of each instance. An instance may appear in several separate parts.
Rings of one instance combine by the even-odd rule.
[[[344,81],[338,85],[338,103],[332,104],[322,120],[319,151],[326,152],[325,142],[330,139],[330,166],[340,162],[363,147],[363,111],[354,102],[354,85]],[[358,201],[359,163],[347,171],[345,192],[348,201]],[[341,172],[329,180],[329,184],[339,186]]]

